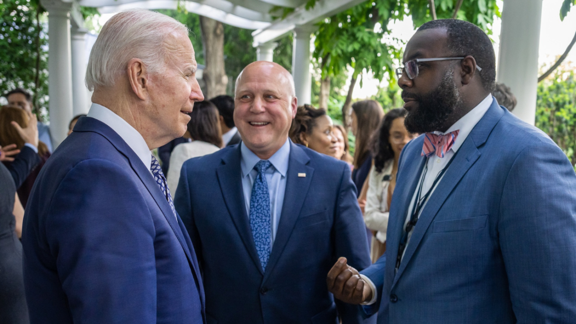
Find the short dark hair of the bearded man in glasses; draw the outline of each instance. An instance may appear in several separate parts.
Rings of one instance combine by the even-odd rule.
[[[457,19],[438,19],[422,24],[418,31],[445,28],[448,51],[452,56],[471,55],[482,71],[476,71],[484,90],[492,92],[496,82],[496,56],[490,37],[472,22]]]

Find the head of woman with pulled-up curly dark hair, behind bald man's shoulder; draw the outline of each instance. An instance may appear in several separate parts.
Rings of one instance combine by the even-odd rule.
[[[324,109],[316,109],[305,104],[298,107],[289,134],[294,143],[340,160],[342,152],[339,150],[333,129],[332,118]]]

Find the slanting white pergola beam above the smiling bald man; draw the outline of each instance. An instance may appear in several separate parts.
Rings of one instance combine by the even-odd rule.
[[[256,47],[258,44],[274,42],[298,25],[316,24],[316,22],[326,17],[334,16],[336,13],[343,12],[365,1],[366,0],[320,0],[316,2],[316,5],[310,10],[306,10],[305,5],[302,5],[283,20],[272,22],[268,27],[254,31],[252,33],[254,38],[253,45]]]

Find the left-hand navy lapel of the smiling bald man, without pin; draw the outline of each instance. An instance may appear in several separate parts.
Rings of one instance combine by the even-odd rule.
[[[227,156],[222,157],[222,165],[219,165],[216,169],[216,174],[224,202],[238,234],[252,261],[260,270],[260,273],[264,274],[256,251],[256,244],[254,244],[254,239],[252,238],[250,220],[246,214],[244,190],[242,190],[242,170],[240,168],[240,145],[230,150]]]

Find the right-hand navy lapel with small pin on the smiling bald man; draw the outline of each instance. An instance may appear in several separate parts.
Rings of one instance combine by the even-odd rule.
[[[274,266],[282,255],[296,220],[300,216],[300,210],[302,210],[306,195],[308,195],[308,188],[314,174],[314,169],[306,165],[309,161],[310,158],[304,150],[290,141],[290,159],[288,161],[288,171],[286,172],[286,191],[282,204],[282,213],[263,282],[274,270]],[[298,176],[300,173],[304,173],[306,176]]]

